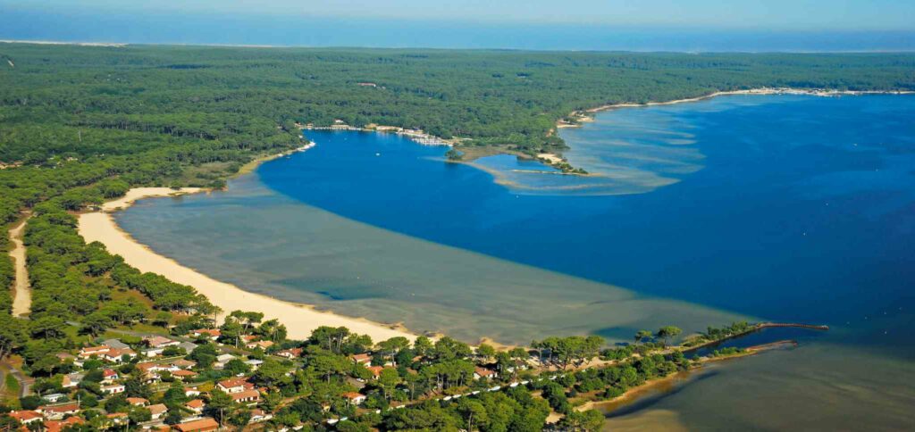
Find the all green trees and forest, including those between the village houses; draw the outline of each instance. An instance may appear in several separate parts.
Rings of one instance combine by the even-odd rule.
[[[245,163],[300,145],[296,122],[375,123],[460,138],[449,159],[500,152],[533,156],[561,153],[565,147],[554,133],[556,121],[575,121],[571,112],[609,103],[758,87],[915,90],[912,54],[0,44],[0,56],[16,64],[0,66],[0,226],[8,228],[24,210],[33,214],[25,234],[32,311],[28,320],[13,318],[9,290],[0,290],[0,360],[21,356],[22,368],[38,378],[34,387],[42,394],[63,391],[64,374],[81,369],[83,383],[68,397],[80,398],[87,408],[81,418],[92,427],[113,421],[102,415],[102,408],[123,413],[124,421],[134,424],[150,413],[102,391],[104,362],[113,360],[89,358],[80,367],[62,354],[113,332],[122,332],[118,337],[139,349],[139,339],[123,333],[130,328],[164,332],[174,324],[173,332],[186,334],[214,325],[216,309],[193,288],[143,274],[102,245],[87,245],[77,233],[74,212],[124,195],[131,187],[221,187]],[[0,286],[5,288],[14,275],[8,248],[4,233]],[[741,329],[710,328],[702,337],[718,340]],[[305,342],[288,341],[281,323],[263,321],[263,315],[252,312],[233,312],[221,332],[220,345],[200,343],[190,353],[169,348],[167,355],[185,355],[194,362],[194,374],[163,373],[155,388],[137,378],[137,360],[129,355],[118,359],[127,395],[165,404],[167,421],[175,423],[184,409],[179,405],[186,402],[179,380],[210,391],[214,380],[249,374],[253,384],[266,389],[258,406],[274,414],[277,426],[325,427],[322,421],[347,416],[339,430],[540,430],[552,408],[566,415],[557,427],[594,430],[597,416],[570,408],[575,394],[611,397],[688,367],[682,354],[661,353],[680,334],[675,327],[640,332],[635,345],[603,351],[604,342],[596,336],[534,342],[540,364],[569,371],[536,381],[527,370],[532,359],[523,349],[496,352],[481,346],[474,352],[449,338],[375,344],[334,328],[319,329]],[[264,343],[245,348],[245,336]],[[286,349],[303,351],[295,359],[273,355]],[[256,371],[241,359],[214,368],[227,350],[264,363]],[[371,364],[390,364],[390,371],[375,377],[348,358],[359,353],[371,353]],[[578,370],[598,353],[607,364]],[[477,368],[484,366],[498,377],[479,377]],[[507,391],[443,399],[485,390],[493,384],[488,379],[532,381]],[[354,380],[366,381],[360,391],[368,399],[358,410],[358,404],[343,397],[356,389]],[[534,395],[537,391],[543,397]],[[14,405],[34,407],[34,399]],[[250,406],[227,402],[219,391],[210,392],[208,402],[205,414],[224,424],[241,427],[253,421]],[[401,403],[409,406],[387,409]],[[0,419],[8,425],[11,418]]]

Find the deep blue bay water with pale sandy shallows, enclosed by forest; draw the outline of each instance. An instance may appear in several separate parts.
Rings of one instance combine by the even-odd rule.
[[[309,132],[317,147],[226,192],[117,217],[245,289],[468,341],[829,324],[611,424],[912,425],[915,98],[716,98],[603,112],[561,134],[569,161],[595,175]],[[768,334],[759,341],[783,336]]]

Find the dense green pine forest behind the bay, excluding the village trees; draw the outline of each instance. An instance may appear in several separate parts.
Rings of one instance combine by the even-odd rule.
[[[417,128],[463,147],[539,153],[564,147],[556,121],[608,103],[759,87],[915,90],[913,54],[3,43],[0,57],[0,225],[30,213],[34,288],[29,320],[10,315],[2,290],[0,359],[21,354],[27,372],[51,367],[44,359],[78,334],[213,312],[193,288],[85,244],[71,212],[135,185],[220,187],[243,163],[299,145],[296,122]],[[0,250],[9,247],[4,235]],[[0,286],[12,280],[4,253]],[[527,395],[512,397],[491,402],[541,411]]]

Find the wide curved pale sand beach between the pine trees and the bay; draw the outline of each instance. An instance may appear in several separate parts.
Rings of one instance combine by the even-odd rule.
[[[231,311],[264,312],[264,319],[276,319],[285,324],[291,339],[307,339],[311,332],[322,325],[344,326],[351,332],[368,334],[375,342],[394,336],[414,339],[415,335],[396,326],[385,325],[361,318],[351,318],[335,313],[316,311],[314,308],[284,300],[277,300],[261,294],[242,290],[220,280],[188,269],[171,258],[156,254],[150,248],[138,243],[114,222],[111,212],[126,208],[141,198],[156,196],[184,195],[204,192],[199,188],[179,190],[167,187],[142,187],[131,189],[124,197],[105,203],[101,211],[84,213],[79,216],[79,232],[86,242],[98,241],[108,250],[120,255],[127,264],[145,272],[165,276],[174,282],[194,287],[200,294],[219,306],[223,315]],[[220,317],[221,318],[221,317]]]

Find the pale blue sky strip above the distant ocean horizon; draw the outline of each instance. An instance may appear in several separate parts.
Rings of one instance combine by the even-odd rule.
[[[131,15],[206,13],[447,19],[490,24],[915,30],[915,0],[0,0],[0,7]]]

